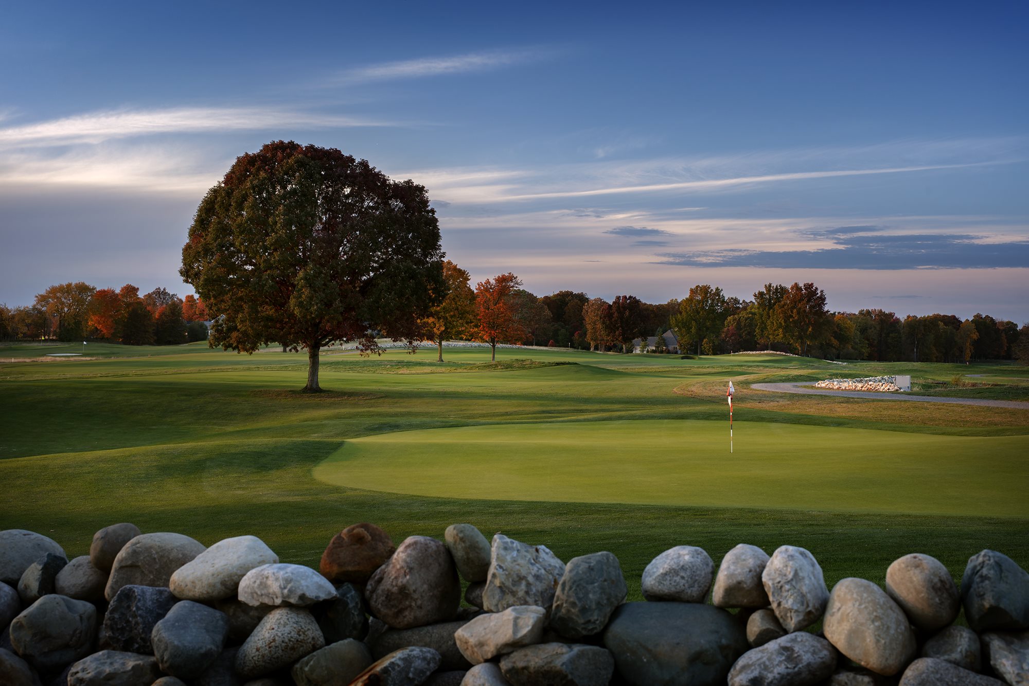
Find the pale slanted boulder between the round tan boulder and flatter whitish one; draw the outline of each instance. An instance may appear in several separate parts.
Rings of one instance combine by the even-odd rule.
[[[235,597],[248,572],[278,561],[279,556],[255,536],[224,539],[176,570],[168,587],[176,597],[186,601],[211,603]]]

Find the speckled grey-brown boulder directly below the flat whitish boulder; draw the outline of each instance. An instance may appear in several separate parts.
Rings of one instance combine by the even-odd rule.
[[[236,655],[236,672],[253,679],[288,666],[325,647],[318,622],[300,608],[276,608],[264,616]]]

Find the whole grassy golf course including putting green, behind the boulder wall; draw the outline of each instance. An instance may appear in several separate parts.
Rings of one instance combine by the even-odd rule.
[[[70,554],[101,526],[134,521],[207,545],[256,534],[284,561],[316,564],[357,521],[397,542],[469,521],[566,560],[610,550],[634,597],[646,562],[679,544],[716,561],[740,542],[801,545],[830,584],[881,581],[913,551],[956,576],[983,548],[1029,565],[1029,413],[998,409],[995,425],[978,419],[981,408],[956,406],[870,418],[861,411],[887,404],[758,403],[743,387],[842,376],[838,365],[524,349],[498,350],[497,364],[488,350],[447,349],[438,365],[434,349],[335,350],[322,362],[334,392],[305,396],[305,357],[275,349],[91,344],[100,358],[4,361],[56,347],[0,348],[0,528],[39,530]],[[946,380],[959,373],[951,367],[849,371]],[[1014,383],[1027,372],[960,366]],[[729,378],[740,387],[732,456]],[[330,468],[331,483],[315,478]]]

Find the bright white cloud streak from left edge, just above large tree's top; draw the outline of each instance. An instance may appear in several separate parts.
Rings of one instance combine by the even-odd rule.
[[[156,134],[401,126],[396,122],[269,107],[173,107],[83,112],[0,128],[0,147],[98,144]]]

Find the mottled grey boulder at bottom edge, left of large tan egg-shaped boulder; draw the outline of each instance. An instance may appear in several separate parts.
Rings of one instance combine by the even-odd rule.
[[[825,639],[796,631],[744,653],[729,686],[813,686],[836,670],[837,652]]]

